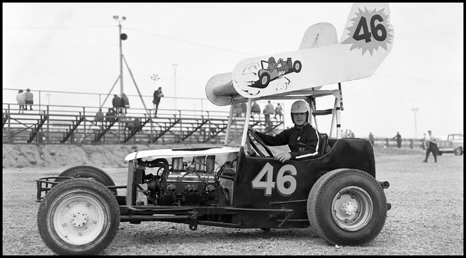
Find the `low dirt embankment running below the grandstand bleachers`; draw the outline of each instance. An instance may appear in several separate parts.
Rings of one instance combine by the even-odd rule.
[[[206,144],[172,145],[32,145],[3,144],[3,168],[49,166],[126,166],[124,157],[136,150],[200,147]]]

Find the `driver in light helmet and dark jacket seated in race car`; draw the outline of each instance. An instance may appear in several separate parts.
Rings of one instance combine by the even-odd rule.
[[[285,129],[276,136],[270,136],[261,132],[255,132],[261,140],[269,146],[288,144],[290,152],[279,153],[275,160],[284,163],[287,160],[302,160],[319,157],[320,136],[317,129],[309,124],[309,104],[303,100],[291,105],[291,121],[294,127]]]

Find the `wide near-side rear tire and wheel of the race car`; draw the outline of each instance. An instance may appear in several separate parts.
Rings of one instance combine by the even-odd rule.
[[[368,173],[337,169],[315,182],[307,200],[307,215],[314,232],[327,242],[364,245],[384,227],[387,199],[382,186]]]

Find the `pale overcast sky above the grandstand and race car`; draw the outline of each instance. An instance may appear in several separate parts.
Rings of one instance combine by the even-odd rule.
[[[210,77],[246,58],[298,50],[316,23],[334,25],[339,41],[352,3],[2,5],[4,104],[26,88],[44,91],[43,104],[46,91],[108,94],[120,73],[118,15],[126,17],[120,23],[128,35],[122,52],[146,105],[162,87],[161,109],[227,111],[205,100]],[[342,129],[356,137],[463,133],[463,3],[390,3],[390,10],[391,52],[371,77],[342,83]],[[160,80],[151,80],[154,74]],[[123,84],[131,106],[142,108],[124,64]],[[120,93],[119,83],[111,93]],[[51,105],[98,106],[104,98],[50,94]],[[280,102],[291,126],[292,101]],[[332,107],[333,100],[317,99],[318,109]],[[329,118],[318,119],[329,133]]]

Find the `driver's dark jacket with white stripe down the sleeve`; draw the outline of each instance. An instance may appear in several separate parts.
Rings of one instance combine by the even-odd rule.
[[[294,126],[281,133],[270,136],[261,132],[256,134],[269,146],[280,146],[288,144],[291,158],[299,160],[302,158],[319,157],[319,132],[309,123],[302,128]]]

